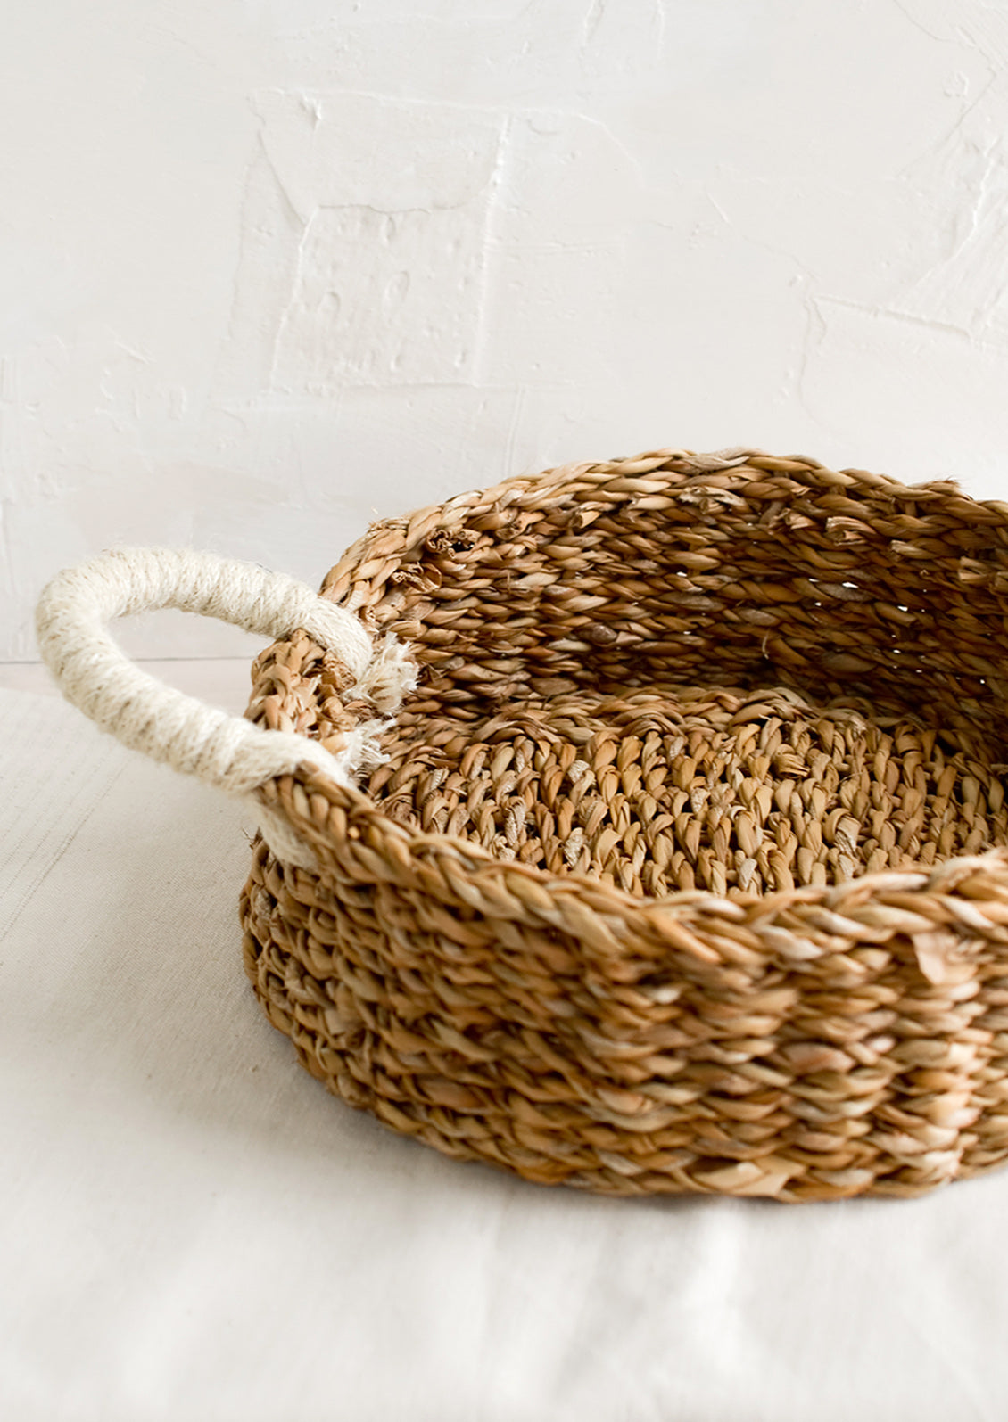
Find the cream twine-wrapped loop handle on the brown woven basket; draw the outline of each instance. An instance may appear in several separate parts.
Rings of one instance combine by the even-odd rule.
[[[271,638],[303,629],[355,678],[352,694],[387,714],[416,684],[406,648],[386,638],[376,648],[360,621],[292,577],[214,553],[185,549],[112,549],[58,573],[36,610],[43,658],[67,701],[124,745],[233,795],[249,795],[276,775],[312,765],[340,785],[374,757],[387,722],[357,725],[335,754],[293,731],[268,731],[228,715],[141,671],[108,636],[114,617],[177,607],[216,617]],[[280,857],[310,865],[276,815],[256,815]],[[279,840],[279,842],[278,842]]]

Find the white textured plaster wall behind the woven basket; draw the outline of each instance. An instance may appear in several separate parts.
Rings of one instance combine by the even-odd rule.
[[[317,582],[665,444],[1007,496],[1007,58],[1004,0],[9,7],[0,658],[108,543]]]

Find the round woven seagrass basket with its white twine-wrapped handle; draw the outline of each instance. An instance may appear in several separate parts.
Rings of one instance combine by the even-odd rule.
[[[332,1092],[611,1194],[1008,1155],[1008,505],[666,449],[376,523],[320,599],[268,579],[110,555],[40,638],[128,744],[253,795],[245,966]],[[167,604],[283,633],[246,721],[98,656]]]

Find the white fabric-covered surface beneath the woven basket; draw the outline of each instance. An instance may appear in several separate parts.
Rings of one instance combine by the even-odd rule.
[[[1008,1172],[602,1200],[329,1098],[256,1005],[224,796],[0,693],[0,1415],[999,1422]]]

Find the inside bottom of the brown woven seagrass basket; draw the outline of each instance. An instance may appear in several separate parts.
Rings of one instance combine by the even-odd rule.
[[[392,818],[638,894],[749,897],[1008,845],[982,747],[773,687],[565,690],[406,715],[362,785]]]

